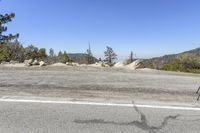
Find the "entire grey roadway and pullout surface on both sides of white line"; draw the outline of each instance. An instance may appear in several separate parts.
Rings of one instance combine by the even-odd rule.
[[[200,75],[92,67],[0,66],[2,133],[199,133],[199,110],[2,99],[122,102],[200,107]]]

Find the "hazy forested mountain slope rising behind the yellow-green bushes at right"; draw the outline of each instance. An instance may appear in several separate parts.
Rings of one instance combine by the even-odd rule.
[[[168,64],[174,58],[176,58],[177,56],[183,55],[183,54],[194,54],[196,57],[200,58],[200,48],[196,48],[196,49],[193,49],[190,51],[185,51],[185,52],[178,53],[178,54],[164,55],[162,57],[144,59],[144,65],[147,68],[161,69],[161,67],[164,64]]]

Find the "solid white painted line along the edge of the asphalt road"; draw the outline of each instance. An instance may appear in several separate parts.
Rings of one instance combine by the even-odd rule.
[[[172,110],[190,110],[200,111],[197,107],[181,107],[181,106],[160,106],[160,105],[143,105],[143,104],[120,104],[120,103],[100,103],[85,101],[50,101],[50,100],[28,100],[28,99],[0,99],[0,102],[18,102],[18,103],[52,103],[52,104],[76,104],[76,105],[96,105],[96,106],[116,106],[116,107],[139,107],[154,109],[172,109]]]

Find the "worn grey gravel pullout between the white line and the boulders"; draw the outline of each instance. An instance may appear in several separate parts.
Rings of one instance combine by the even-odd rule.
[[[194,103],[200,75],[149,69],[0,66],[0,96]]]

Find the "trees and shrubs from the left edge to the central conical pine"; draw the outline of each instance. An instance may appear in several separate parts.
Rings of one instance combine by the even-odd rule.
[[[23,45],[18,41],[19,34],[4,35],[7,31],[5,25],[8,22],[11,22],[14,17],[14,13],[5,15],[0,14],[0,64],[3,62],[23,63],[26,60],[45,61],[47,64],[58,62],[94,64],[95,62],[101,61],[104,62],[104,64],[113,66],[114,60],[117,59],[117,55],[113,49],[107,47],[105,50],[105,60],[97,60],[92,54],[90,44],[86,53],[79,54],[68,54],[66,51],[59,51],[58,54],[56,54],[52,48],[49,49],[49,54],[47,54],[48,52],[45,48],[38,48],[34,45],[23,47]]]

